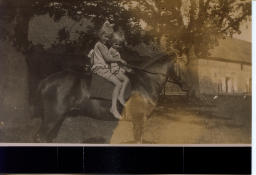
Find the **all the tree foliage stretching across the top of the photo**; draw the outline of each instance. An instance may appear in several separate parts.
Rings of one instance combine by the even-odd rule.
[[[15,6],[10,5],[6,4],[8,8],[1,6],[1,39],[14,41],[20,50],[28,41],[17,39],[15,33],[19,31],[8,30],[8,24],[15,18]],[[68,17],[81,25],[82,19],[91,19],[93,25],[87,26],[86,31],[76,31],[78,40],[70,39],[70,29],[58,32],[54,46],[65,44],[70,52],[75,48],[92,47],[98,39],[98,29],[109,20],[115,23],[115,31],[124,32],[129,45],[160,43],[164,38],[166,50],[176,49],[182,54],[193,45],[197,56],[207,55],[223,34],[231,37],[240,34],[241,22],[251,20],[251,2],[246,0],[30,0],[19,5],[30,19],[49,14],[55,22]],[[151,26],[146,32],[142,32],[141,20]]]

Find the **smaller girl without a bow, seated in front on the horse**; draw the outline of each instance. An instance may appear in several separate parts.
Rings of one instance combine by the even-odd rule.
[[[115,32],[110,40],[111,48],[108,50],[108,56],[116,59],[121,59],[118,52],[123,46],[125,46],[125,37],[120,32]],[[132,69],[128,69],[125,66],[119,66],[118,63],[111,63],[111,73],[116,75],[116,78],[122,82],[122,88],[120,89],[118,100],[123,106],[125,105],[124,93],[129,83],[129,78],[125,76],[125,71],[131,72]]]

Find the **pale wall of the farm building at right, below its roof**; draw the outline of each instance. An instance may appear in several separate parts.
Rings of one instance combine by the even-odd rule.
[[[199,59],[199,84],[202,94],[251,92],[251,66]]]

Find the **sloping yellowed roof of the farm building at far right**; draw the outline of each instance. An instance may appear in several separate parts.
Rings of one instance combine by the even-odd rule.
[[[221,60],[225,62],[252,63],[252,43],[236,38],[226,37],[219,40],[219,46],[210,49],[209,57],[203,59]]]

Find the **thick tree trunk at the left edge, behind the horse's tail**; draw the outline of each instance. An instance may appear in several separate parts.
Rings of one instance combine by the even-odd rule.
[[[17,51],[17,46],[24,50],[27,42],[29,17],[19,7],[14,13],[7,29],[15,37],[0,42],[0,128],[26,126],[30,121],[28,67],[25,55]]]

